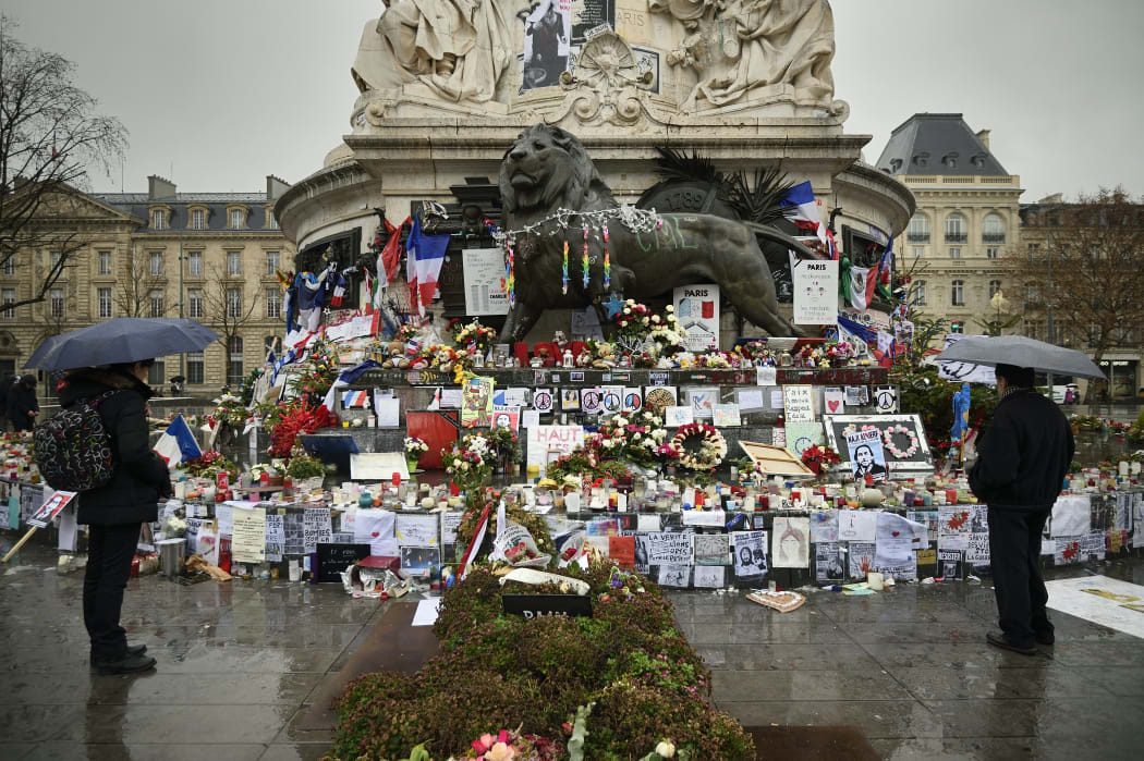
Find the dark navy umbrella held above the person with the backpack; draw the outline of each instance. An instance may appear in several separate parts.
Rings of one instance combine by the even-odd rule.
[[[219,341],[219,334],[194,320],[116,318],[53,336],[40,344],[24,367],[70,370],[77,367],[137,362],[197,352]]]

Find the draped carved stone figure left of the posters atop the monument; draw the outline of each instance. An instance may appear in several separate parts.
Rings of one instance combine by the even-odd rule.
[[[514,59],[517,0],[384,0],[366,24],[351,73],[358,89],[420,82],[437,96],[484,103]]]

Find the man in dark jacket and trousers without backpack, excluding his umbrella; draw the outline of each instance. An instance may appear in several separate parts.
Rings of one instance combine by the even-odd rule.
[[[1041,578],[1041,531],[1060,494],[1075,444],[1064,414],[1033,390],[1033,370],[996,367],[1001,401],[977,446],[969,486],[990,515],[990,564],[1000,633],[990,644],[1034,655],[1052,644]]]

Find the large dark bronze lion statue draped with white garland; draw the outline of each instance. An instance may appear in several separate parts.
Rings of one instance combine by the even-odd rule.
[[[548,125],[525,129],[505,153],[500,193],[506,230],[537,225],[559,209],[597,211],[618,205],[583,144]],[[662,225],[633,232],[619,219],[609,224],[611,283],[604,288],[604,241],[588,235],[589,280],[583,283],[583,232],[580,218],[566,230],[542,224],[515,240],[516,303],[501,339],[523,341],[546,309],[583,309],[609,291],[625,298],[661,296],[677,286],[718,283],[722,296],[747,321],[772,336],[801,335],[779,313],[774,282],[755,232],[732,219],[706,214],[664,214]],[[569,289],[562,293],[564,242],[569,245]],[[609,321],[601,314],[601,323]]]

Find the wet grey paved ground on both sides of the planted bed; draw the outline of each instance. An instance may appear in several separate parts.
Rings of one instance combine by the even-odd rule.
[[[332,732],[304,729],[307,711],[387,606],[336,585],[132,579],[124,625],[158,670],[100,676],[82,572],[57,575],[55,556],[33,546],[0,568],[0,759],[318,759]],[[1139,561],[1101,572],[1144,582]],[[1054,648],[1000,651],[984,643],[993,593],[971,583],[815,592],[789,614],[672,599],[744,724],[855,726],[887,759],[1138,758],[1144,640],[1128,634],[1052,612]]]

